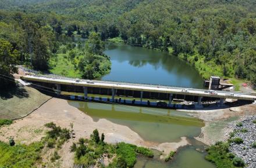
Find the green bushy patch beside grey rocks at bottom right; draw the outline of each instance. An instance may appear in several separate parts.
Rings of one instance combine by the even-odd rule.
[[[217,168],[244,167],[243,165],[235,166],[237,161],[240,162],[241,160],[229,153],[229,143],[218,142],[208,147],[207,152],[208,155],[205,156],[205,159],[215,163]]]

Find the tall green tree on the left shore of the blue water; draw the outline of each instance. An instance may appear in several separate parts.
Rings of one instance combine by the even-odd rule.
[[[88,41],[86,42],[86,49],[89,53],[102,55],[104,50],[103,42],[101,41],[101,35],[92,32],[89,35]]]

